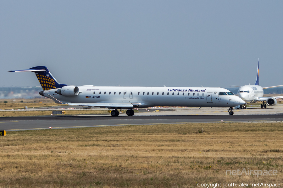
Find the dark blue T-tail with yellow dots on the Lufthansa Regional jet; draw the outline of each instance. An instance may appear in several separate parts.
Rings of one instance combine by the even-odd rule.
[[[46,66],[36,66],[25,70],[9,70],[8,72],[34,72],[43,90],[62,88],[66,84],[60,84],[49,72]]]

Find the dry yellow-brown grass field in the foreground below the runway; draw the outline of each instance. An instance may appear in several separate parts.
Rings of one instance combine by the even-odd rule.
[[[0,138],[0,186],[282,186],[282,127],[283,123],[190,123],[12,131]],[[277,173],[226,175],[226,170],[238,169]]]

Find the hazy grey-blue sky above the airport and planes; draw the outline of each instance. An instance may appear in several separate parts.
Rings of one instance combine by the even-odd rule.
[[[282,1],[1,1],[0,86],[283,84]]]

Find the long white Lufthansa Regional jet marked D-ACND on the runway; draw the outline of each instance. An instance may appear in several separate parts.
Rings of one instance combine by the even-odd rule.
[[[219,87],[117,87],[117,86],[67,86],[60,84],[47,67],[36,66],[27,70],[9,72],[34,72],[44,91],[39,94],[59,104],[94,106],[114,109],[111,116],[118,116],[118,110],[128,109],[128,116],[134,115],[133,108],[154,106],[180,107],[233,107],[245,104],[229,90]]]

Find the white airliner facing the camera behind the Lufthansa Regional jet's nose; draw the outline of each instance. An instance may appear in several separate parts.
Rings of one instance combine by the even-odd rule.
[[[280,85],[283,86],[283,85]],[[268,106],[274,106],[277,104],[276,99],[283,98],[283,96],[278,97],[263,97],[264,89],[272,88],[272,87],[279,87],[279,86],[271,86],[271,87],[261,87],[259,86],[259,59],[258,59],[258,71],[257,71],[257,79],[254,85],[245,85],[245,86],[235,86],[240,87],[237,92],[237,95],[243,99],[246,103],[255,103],[261,101],[262,104],[260,105],[261,108],[266,108],[266,104]],[[266,102],[265,102],[266,101]],[[241,107],[242,108],[242,107]],[[246,105],[243,108],[247,108]]]

